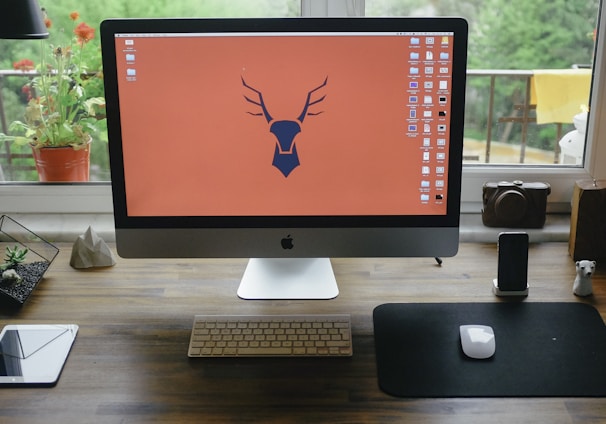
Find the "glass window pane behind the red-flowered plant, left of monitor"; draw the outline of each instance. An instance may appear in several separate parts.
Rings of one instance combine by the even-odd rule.
[[[78,16],[72,12],[77,11]],[[38,181],[32,155],[32,148],[25,139],[26,133],[19,130],[14,121],[27,123],[26,115],[32,118],[41,106],[37,104],[27,109],[30,101],[44,99],[48,89],[48,98],[54,99],[56,87],[60,84],[54,78],[51,83],[44,83],[38,77],[39,64],[43,52],[44,63],[52,62],[62,46],[61,58],[69,63],[66,67],[74,70],[70,75],[70,85],[81,87],[78,91],[65,91],[62,100],[57,103],[69,103],[64,110],[70,114],[75,110],[71,103],[73,96],[84,103],[85,100],[103,97],[103,80],[101,70],[101,53],[98,36],[99,23],[111,17],[281,17],[298,16],[301,13],[300,0],[107,0],[103,2],[77,2],[75,0],[54,0],[46,6],[46,16],[51,38],[48,40],[0,40],[0,133],[10,136],[22,136],[21,143],[12,140],[0,140],[0,182],[2,181]],[[73,30],[77,25],[86,23],[94,33],[81,32],[88,41],[78,40]],[[47,25],[47,26],[48,26]],[[84,27],[86,29],[86,27]],[[90,38],[92,37],[92,38]],[[89,40],[90,38],[90,40]],[[66,48],[69,46],[69,48]],[[81,49],[82,47],[82,49]],[[54,50],[53,50],[54,49]],[[75,71],[78,66],[78,72]],[[54,69],[57,66],[53,66]],[[82,71],[86,71],[84,74]],[[82,78],[80,78],[82,77]],[[172,77],[177,78],[178,75]],[[37,79],[38,78],[38,79]],[[167,75],[167,79],[171,76]],[[48,81],[51,81],[50,79]],[[53,100],[51,100],[52,102]],[[89,101],[88,104],[94,103]],[[102,120],[102,107],[97,107],[96,118],[91,122],[98,127],[93,134],[90,147],[90,181],[109,181],[109,158],[107,152],[107,132]],[[81,109],[76,116],[84,112]],[[39,113],[38,113],[39,114]],[[33,116],[35,120],[35,116]],[[53,119],[53,118],[51,118]],[[31,122],[31,119],[30,119]],[[10,127],[10,128],[9,128]],[[60,128],[58,131],[64,131]],[[72,131],[74,132],[74,131]],[[78,132],[78,131],[75,131]],[[27,138],[31,137],[27,134]],[[38,138],[42,140],[42,137]]]

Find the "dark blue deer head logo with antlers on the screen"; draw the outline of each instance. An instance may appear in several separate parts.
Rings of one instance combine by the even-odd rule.
[[[244,87],[254,91],[257,94],[258,100],[253,100],[246,95],[244,98],[247,102],[261,108],[261,112],[247,113],[253,116],[263,116],[269,124],[269,132],[277,138],[272,165],[278,168],[285,177],[288,177],[292,170],[300,165],[299,156],[297,155],[297,146],[295,145],[295,137],[301,132],[301,124],[303,124],[303,120],[306,116],[317,116],[323,112],[310,112],[308,109],[326,98],[326,95],[324,95],[317,100],[312,100],[313,94],[324,87],[327,82],[328,77],[324,79],[322,84],[307,93],[303,111],[296,120],[276,121],[269,113],[269,110],[267,110],[261,91],[248,85],[246,81],[244,81],[244,77],[242,77],[242,84]]]

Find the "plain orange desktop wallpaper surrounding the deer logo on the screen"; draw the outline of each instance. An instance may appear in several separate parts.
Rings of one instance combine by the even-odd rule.
[[[356,38],[117,38],[128,214],[444,214],[419,202],[406,39]],[[288,176],[243,80],[273,121],[300,126]]]

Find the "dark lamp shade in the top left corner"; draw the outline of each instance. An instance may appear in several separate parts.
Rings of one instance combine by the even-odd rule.
[[[42,11],[37,0],[0,1],[0,38],[46,38]]]

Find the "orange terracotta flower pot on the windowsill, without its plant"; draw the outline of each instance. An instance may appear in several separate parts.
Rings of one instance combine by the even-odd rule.
[[[43,182],[88,181],[90,142],[82,149],[72,147],[32,148],[38,179]]]

